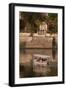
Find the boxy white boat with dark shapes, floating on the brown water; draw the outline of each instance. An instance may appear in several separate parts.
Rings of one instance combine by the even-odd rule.
[[[40,54],[33,55],[33,65],[47,66],[49,60],[50,56],[48,55],[40,55]]]

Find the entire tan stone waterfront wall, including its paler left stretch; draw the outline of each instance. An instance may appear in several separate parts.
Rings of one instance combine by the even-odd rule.
[[[52,40],[53,37],[44,35],[20,36],[20,44],[25,42],[24,48],[52,48]]]

